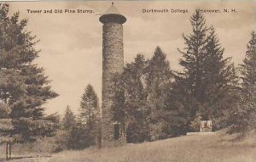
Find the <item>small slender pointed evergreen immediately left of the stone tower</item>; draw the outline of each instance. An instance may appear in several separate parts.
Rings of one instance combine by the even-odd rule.
[[[99,122],[99,101],[93,87],[89,84],[84,89],[80,103],[79,120],[89,130],[89,136],[93,139],[90,145],[96,144]]]

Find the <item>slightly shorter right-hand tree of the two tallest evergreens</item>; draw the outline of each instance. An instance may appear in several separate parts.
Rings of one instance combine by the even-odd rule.
[[[213,27],[210,28],[206,55],[203,61],[201,109],[203,118],[220,120],[226,111],[230,111],[238,102],[236,96],[238,75],[231,58],[224,59],[224,48],[221,47]],[[231,103],[231,104],[230,104]],[[220,124],[220,121],[215,124]]]

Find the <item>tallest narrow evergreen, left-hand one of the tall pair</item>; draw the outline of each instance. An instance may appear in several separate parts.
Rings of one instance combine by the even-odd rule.
[[[190,18],[193,31],[189,36],[184,36],[186,47],[184,51],[178,49],[183,54],[183,59],[180,59],[179,64],[183,66],[183,72],[179,73],[177,82],[182,84],[185,89],[185,95],[191,95],[195,98],[195,104],[201,103],[204,94],[202,93],[202,79],[203,79],[203,60],[206,55],[207,46],[207,31],[209,29],[206,26],[206,20],[204,19],[200,10],[195,10],[195,14]],[[195,114],[200,111],[198,108],[190,109],[191,114]]]

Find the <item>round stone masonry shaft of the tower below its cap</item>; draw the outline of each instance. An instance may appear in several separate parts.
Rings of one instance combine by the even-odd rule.
[[[103,25],[102,53],[102,146],[119,142],[113,139],[113,75],[124,67],[123,26],[108,22]]]

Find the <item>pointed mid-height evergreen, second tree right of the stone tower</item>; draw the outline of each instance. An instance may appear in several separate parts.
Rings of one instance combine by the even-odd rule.
[[[147,74],[147,106],[150,110],[150,138],[157,140],[166,138],[167,120],[167,92],[170,91],[172,83],[172,71],[166,60],[166,54],[160,47],[156,47],[152,59],[146,68]]]

